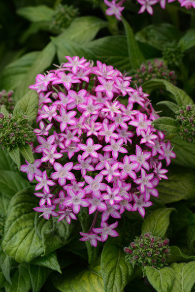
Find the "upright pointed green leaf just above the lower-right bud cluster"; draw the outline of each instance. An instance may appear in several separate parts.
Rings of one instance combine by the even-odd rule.
[[[152,235],[164,237],[169,226],[169,216],[174,208],[160,208],[148,215],[142,225],[142,234],[151,232]]]

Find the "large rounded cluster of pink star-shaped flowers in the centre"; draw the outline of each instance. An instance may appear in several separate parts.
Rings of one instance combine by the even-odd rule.
[[[66,58],[30,86],[39,93],[34,151],[40,158],[21,170],[37,181],[35,210],[44,218],[70,223],[88,209],[94,220],[81,240],[96,246],[118,236],[118,222],[109,224],[109,218],[119,219],[124,211],[145,215],[150,196],[158,197],[159,181],[167,179],[161,160],[168,166],[175,153],[152,127],[158,115],[148,94],[129,86],[131,77],[100,61],[93,66],[84,57]]]

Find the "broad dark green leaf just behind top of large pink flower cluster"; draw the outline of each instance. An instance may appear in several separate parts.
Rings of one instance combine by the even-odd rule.
[[[124,36],[100,38],[88,43],[86,46],[96,56],[96,59],[103,63],[111,65],[121,72],[132,70]]]

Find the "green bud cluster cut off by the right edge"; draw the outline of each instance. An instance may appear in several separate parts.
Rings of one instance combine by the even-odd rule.
[[[176,115],[180,123],[179,135],[183,140],[192,142],[195,137],[195,105],[182,106]]]

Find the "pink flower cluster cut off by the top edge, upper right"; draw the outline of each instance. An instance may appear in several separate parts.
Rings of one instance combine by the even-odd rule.
[[[107,5],[108,9],[106,10],[106,15],[114,15],[118,20],[121,20],[121,12],[124,10],[122,7],[123,3],[126,0],[104,0],[104,3]],[[167,3],[174,2],[176,0],[168,0]],[[194,0],[177,0],[181,7],[185,7],[185,9],[195,9],[195,2]],[[147,11],[149,14],[153,14],[153,5],[159,3],[160,7],[165,9],[166,7],[166,0],[137,0],[137,2],[141,5],[141,8],[138,13],[143,13]]]

